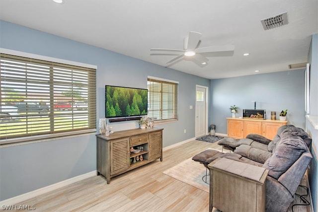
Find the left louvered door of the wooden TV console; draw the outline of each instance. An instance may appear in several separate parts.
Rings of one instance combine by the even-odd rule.
[[[129,139],[118,139],[110,144],[110,174],[117,174],[129,169]]]

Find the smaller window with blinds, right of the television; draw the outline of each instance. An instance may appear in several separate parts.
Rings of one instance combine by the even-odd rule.
[[[178,82],[148,77],[148,117],[154,121],[178,120]]]

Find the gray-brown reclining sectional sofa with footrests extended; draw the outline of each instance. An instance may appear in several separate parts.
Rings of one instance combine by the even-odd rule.
[[[206,165],[226,157],[268,169],[265,210],[286,212],[312,160],[311,141],[303,129],[285,125],[278,129],[273,141],[255,134],[241,140],[224,138],[218,144],[230,146],[234,153],[205,150],[193,159]]]

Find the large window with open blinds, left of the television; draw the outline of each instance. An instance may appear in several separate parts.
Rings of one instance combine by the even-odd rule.
[[[7,54],[0,62],[0,141],[96,129],[95,69]]]

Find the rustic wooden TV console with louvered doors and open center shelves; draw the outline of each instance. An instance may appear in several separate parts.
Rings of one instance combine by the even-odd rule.
[[[97,175],[110,178],[160,158],[162,161],[162,130],[133,129],[97,137]],[[131,148],[139,152],[131,152]]]

